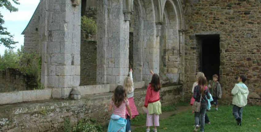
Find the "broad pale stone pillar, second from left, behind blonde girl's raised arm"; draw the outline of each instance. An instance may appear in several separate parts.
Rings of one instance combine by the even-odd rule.
[[[129,72],[129,21],[124,20],[123,1],[97,2],[97,83],[123,84]]]

